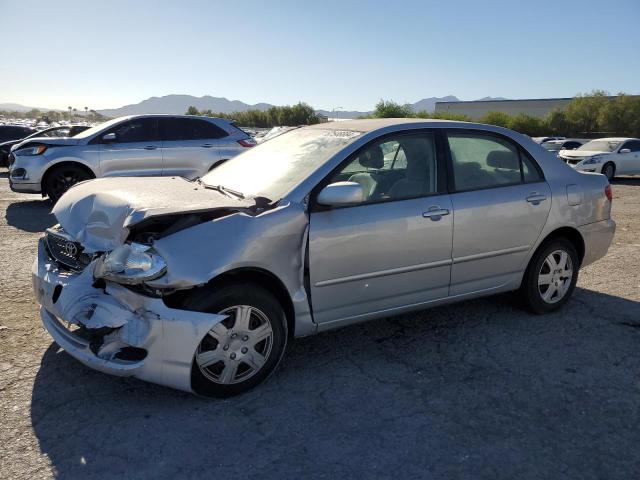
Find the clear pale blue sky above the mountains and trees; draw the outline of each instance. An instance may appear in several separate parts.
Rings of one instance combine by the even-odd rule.
[[[640,0],[0,0],[0,19],[0,102],[38,107],[640,93]]]

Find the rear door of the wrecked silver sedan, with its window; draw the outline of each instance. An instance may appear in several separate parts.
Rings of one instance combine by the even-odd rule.
[[[524,268],[547,221],[551,190],[514,142],[470,130],[447,137],[454,211],[449,294],[498,289]]]

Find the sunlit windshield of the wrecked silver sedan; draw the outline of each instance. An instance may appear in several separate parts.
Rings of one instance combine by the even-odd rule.
[[[358,135],[351,130],[293,130],[223,163],[202,181],[246,197],[280,200]]]

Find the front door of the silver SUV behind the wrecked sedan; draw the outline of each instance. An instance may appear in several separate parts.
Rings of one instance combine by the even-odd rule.
[[[104,177],[162,175],[162,142],[156,117],[120,123],[99,134],[95,142],[100,143],[100,172]]]

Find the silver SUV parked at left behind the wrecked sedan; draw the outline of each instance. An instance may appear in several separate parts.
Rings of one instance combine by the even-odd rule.
[[[31,138],[12,149],[12,190],[57,201],[97,177],[200,177],[254,140],[220,118],[137,115],[110,120],[73,138]]]

